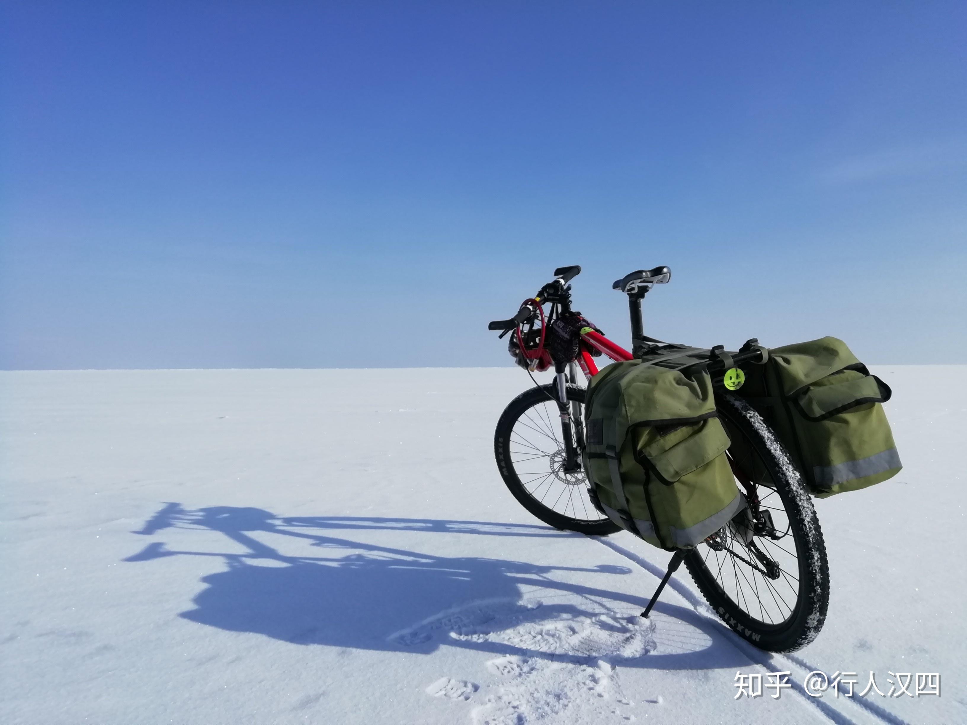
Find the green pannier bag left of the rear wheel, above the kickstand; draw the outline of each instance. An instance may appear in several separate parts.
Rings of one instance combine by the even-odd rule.
[[[592,378],[585,401],[592,501],[669,551],[695,546],[746,507],[712,381],[703,367],[688,370],[615,362]]]

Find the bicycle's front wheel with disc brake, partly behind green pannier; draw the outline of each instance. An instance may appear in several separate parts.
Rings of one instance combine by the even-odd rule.
[[[504,410],[493,441],[500,475],[520,505],[545,524],[594,536],[614,534],[621,527],[591,503],[584,471],[564,472],[562,422],[552,394],[550,386],[532,388]],[[568,400],[583,419],[584,389],[569,385]],[[571,440],[580,440],[574,417],[570,424]]]

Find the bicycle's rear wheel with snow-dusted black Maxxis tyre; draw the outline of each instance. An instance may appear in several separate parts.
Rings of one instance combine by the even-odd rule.
[[[719,397],[718,414],[739,488],[758,498],[768,524],[753,522],[747,509],[692,549],[685,564],[732,629],[762,650],[793,652],[826,621],[830,572],[819,521],[802,477],[762,418],[733,395]]]

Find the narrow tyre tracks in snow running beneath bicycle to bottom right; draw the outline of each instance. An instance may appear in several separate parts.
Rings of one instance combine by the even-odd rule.
[[[600,543],[602,546],[605,546],[608,549],[611,549],[613,552],[615,552],[619,556],[624,557],[625,559],[629,560],[633,564],[640,566],[648,573],[657,577],[659,581],[664,576],[664,573],[665,573],[664,569],[652,564],[647,559],[644,559],[639,555],[635,554],[634,552],[626,549],[621,544],[617,544],[614,541],[608,541],[602,536],[589,536],[589,538],[592,538],[598,543]],[[757,664],[763,669],[772,673],[784,672],[784,671],[789,671],[789,672],[796,671],[796,672],[799,672],[801,676],[805,676],[809,672],[819,670],[818,667],[814,667],[802,657],[796,656],[794,654],[789,654],[789,653],[780,654],[778,652],[765,652],[764,650],[759,650],[758,648],[754,647],[752,644],[748,643],[738,634],[733,632],[728,626],[722,623],[721,619],[716,615],[712,607],[709,606],[708,602],[706,602],[698,594],[695,594],[694,592],[692,592],[689,589],[688,585],[686,585],[684,582],[680,580],[677,580],[675,577],[672,577],[671,579],[669,579],[668,584],[666,586],[669,589],[674,590],[677,594],[679,594],[679,596],[681,596],[683,599],[689,602],[689,604],[691,605],[691,608],[695,610],[696,614],[708,620],[712,620],[715,623],[721,624],[722,625],[721,628],[727,633],[726,638],[729,644],[731,644],[740,652],[743,652],[743,654],[745,654],[750,660],[752,660],[753,663]],[[779,660],[780,662],[784,662],[787,666],[784,668],[775,667],[774,669],[772,665],[766,662],[760,661],[763,655],[772,657],[773,659]],[[809,705],[814,707],[816,710],[819,710],[820,712],[822,712],[832,722],[835,722],[836,725],[855,725],[854,721],[851,720],[846,713],[840,710],[836,710],[832,705],[825,702],[822,698],[810,697],[808,694],[806,694],[806,687],[803,685],[802,682],[795,681],[793,678],[790,678],[789,681],[790,681],[790,684],[793,685],[794,692],[800,695]],[[888,725],[909,725],[909,723],[907,723],[906,720],[903,720],[897,715],[894,715],[894,713],[891,712],[890,710],[881,708],[876,703],[868,702],[865,699],[857,700],[850,697],[850,698],[846,698],[845,702],[849,702],[854,707],[859,708],[860,710],[864,710],[866,714],[873,716],[880,722],[888,723]]]

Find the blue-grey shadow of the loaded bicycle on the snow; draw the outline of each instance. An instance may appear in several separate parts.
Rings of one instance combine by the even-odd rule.
[[[391,531],[415,537],[427,533],[581,536],[542,525],[278,517],[260,508],[190,510],[169,503],[134,533],[153,536],[171,529],[218,532],[234,545],[230,551],[190,551],[168,549],[156,541],[124,561],[180,556],[221,560],[225,568],[202,577],[206,588],[192,600],[194,608],[180,616],[227,631],[262,634],[298,645],[386,652],[428,654],[441,645],[450,645],[561,659],[601,656],[596,648],[603,648],[605,655],[617,657],[626,667],[715,669],[748,664],[747,655],[721,646],[727,636],[724,625],[689,607],[659,601],[656,612],[660,626],[650,633],[642,632],[642,623],[629,614],[639,612],[647,603],[646,597],[555,576],[565,572],[632,573],[626,566],[536,565],[448,557],[358,540],[361,533]],[[355,537],[335,536],[339,531]],[[308,542],[320,549],[319,555],[282,554],[266,543],[273,536],[286,537],[279,539],[280,543],[292,543],[293,539]],[[650,594],[655,582],[649,579],[641,574],[630,577],[627,588]],[[535,598],[525,597],[521,588],[527,586],[543,591]]]

